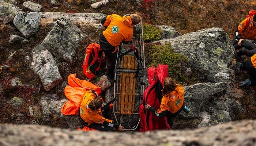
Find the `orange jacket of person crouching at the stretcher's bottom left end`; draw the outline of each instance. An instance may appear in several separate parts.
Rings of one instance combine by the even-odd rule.
[[[84,94],[83,101],[80,106],[80,116],[84,122],[88,123],[88,126],[91,123],[103,124],[104,121],[112,123],[112,120],[104,118],[101,112],[101,108],[98,111],[93,111],[89,108],[89,103],[96,97],[96,95],[91,91],[87,91]]]

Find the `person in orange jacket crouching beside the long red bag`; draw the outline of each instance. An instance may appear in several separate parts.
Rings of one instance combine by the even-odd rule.
[[[163,84],[161,109],[151,107],[151,105],[147,103],[145,107],[154,112],[158,117],[166,116],[169,126],[172,127],[173,117],[180,114],[182,110],[189,113],[190,109],[184,105],[184,89],[181,85],[176,84],[176,82],[169,77],[165,78]]]

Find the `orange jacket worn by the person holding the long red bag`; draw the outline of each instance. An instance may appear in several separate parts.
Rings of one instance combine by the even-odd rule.
[[[169,95],[164,95],[161,100],[160,110],[157,113],[163,111],[170,111],[172,114],[180,110],[184,103],[184,89],[181,86],[177,86],[176,91],[170,92]]]

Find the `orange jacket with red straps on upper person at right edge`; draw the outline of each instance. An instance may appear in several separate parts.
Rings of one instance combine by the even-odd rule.
[[[253,15],[254,16],[254,15]],[[256,38],[256,26],[253,25],[253,16],[244,19],[238,26],[238,34],[241,34],[243,39],[255,39]],[[249,25],[246,28],[246,22],[249,19]]]

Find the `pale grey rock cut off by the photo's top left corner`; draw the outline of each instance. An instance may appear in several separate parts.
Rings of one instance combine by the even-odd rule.
[[[22,9],[12,3],[0,0],[0,18],[4,18],[8,15],[15,16],[16,14],[18,14],[19,11],[22,11]]]

